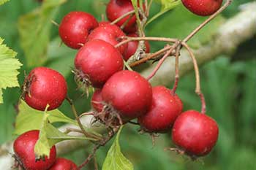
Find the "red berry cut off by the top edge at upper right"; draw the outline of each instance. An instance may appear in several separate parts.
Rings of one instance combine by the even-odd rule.
[[[189,11],[200,16],[212,15],[222,6],[222,0],[182,0],[182,3]]]

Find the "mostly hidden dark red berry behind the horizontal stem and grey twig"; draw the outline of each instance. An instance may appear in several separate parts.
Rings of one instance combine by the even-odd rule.
[[[128,34],[127,36],[132,36],[132,37],[138,37],[137,34]],[[124,53],[124,60],[127,61],[132,55],[135,54],[137,48],[138,48],[138,41],[132,41],[132,42],[128,42],[128,47],[127,50]],[[148,43],[148,41],[145,41],[145,46],[146,46],[146,53],[149,53],[150,51],[150,45]]]

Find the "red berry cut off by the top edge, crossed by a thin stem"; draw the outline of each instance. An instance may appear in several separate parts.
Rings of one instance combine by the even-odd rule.
[[[132,6],[132,1],[130,0],[110,0],[106,9],[108,20],[116,20],[117,18],[121,17],[127,12],[132,11],[133,9],[134,8]],[[120,21],[118,21],[118,23],[116,23],[116,25],[122,26],[128,19],[129,22],[124,27],[124,31],[128,33],[135,32],[137,30],[135,15],[132,15],[132,18],[130,18],[130,16],[127,16],[121,19]]]

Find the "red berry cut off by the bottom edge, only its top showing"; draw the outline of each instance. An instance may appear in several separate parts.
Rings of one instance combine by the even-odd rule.
[[[66,158],[57,158],[49,170],[78,170],[78,166]]]

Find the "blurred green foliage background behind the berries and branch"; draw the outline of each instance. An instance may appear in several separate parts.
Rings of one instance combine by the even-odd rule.
[[[250,0],[235,0],[222,16],[204,28],[190,45],[200,47],[211,41],[214,31],[228,18],[238,12],[241,4]],[[23,63],[19,82],[22,84],[24,72],[35,66],[43,65],[58,70],[67,78],[69,96],[73,98],[79,112],[90,109],[89,99],[76,90],[70,70],[76,51],[60,44],[58,28],[50,23],[57,23],[72,10],[90,12],[98,20],[105,13],[105,0],[69,0],[61,6],[54,1],[45,10],[40,11],[40,4],[34,0],[11,0],[0,7],[0,36],[4,43],[18,52],[18,59]],[[57,7],[59,6],[59,7]],[[152,15],[160,9],[160,4],[153,4]],[[42,7],[41,7],[42,10]],[[256,10],[256,9],[255,9]],[[165,13],[147,27],[151,36],[169,36],[182,38],[192,31],[200,18],[187,12],[182,5]],[[170,24],[171,23],[171,24]],[[182,31],[181,31],[182,29]],[[207,33],[207,34],[206,34]],[[162,47],[160,43],[151,43],[152,51]],[[128,125],[121,134],[121,150],[135,166],[136,170],[255,170],[256,169],[256,39],[244,42],[233,55],[219,56],[214,61],[200,68],[201,84],[206,96],[208,115],[219,124],[219,141],[214,150],[205,158],[192,162],[189,158],[164,151],[173,146],[170,134],[161,135],[152,147],[151,137],[137,133],[137,127]],[[200,101],[194,93],[194,74],[191,72],[181,78],[178,95],[184,101],[184,109],[200,109]],[[172,87],[172,85],[170,85]],[[170,88],[169,87],[169,88]],[[15,123],[15,104],[20,96],[19,88],[4,90],[4,104],[0,104],[0,144],[15,139],[12,135]],[[67,103],[61,111],[72,117]],[[97,159],[102,165],[110,144],[99,150]],[[75,163],[82,163],[90,148],[77,150],[62,155]],[[85,169],[93,169],[93,165]]]

